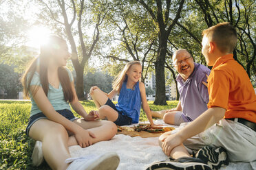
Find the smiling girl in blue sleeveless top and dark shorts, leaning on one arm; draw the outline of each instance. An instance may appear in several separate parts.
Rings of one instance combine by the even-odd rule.
[[[116,125],[131,125],[138,123],[140,107],[147,114],[151,125],[154,125],[147,104],[145,85],[140,82],[142,66],[140,62],[128,62],[125,68],[118,74],[113,83],[113,90],[109,94],[104,93],[97,86],[90,89],[90,95],[94,99],[98,110],[99,119],[113,121]],[[111,99],[119,94],[116,106]]]

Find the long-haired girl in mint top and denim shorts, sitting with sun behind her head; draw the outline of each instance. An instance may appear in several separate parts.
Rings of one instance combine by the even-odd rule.
[[[88,147],[109,140],[116,134],[116,125],[111,121],[94,121],[97,115],[93,110],[85,112],[76,96],[72,74],[65,67],[70,58],[65,40],[56,35],[48,39],[23,75],[25,95],[32,101],[26,133],[36,140],[34,165],[40,165],[44,157],[52,169],[116,169],[119,158],[114,153],[97,158],[70,158],[69,146]],[[70,105],[82,119],[74,117]]]

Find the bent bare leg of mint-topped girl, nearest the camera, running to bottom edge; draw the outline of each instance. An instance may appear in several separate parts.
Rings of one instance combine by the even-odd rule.
[[[30,128],[29,135],[36,141],[42,142],[43,157],[51,169],[67,169],[65,163],[70,158],[70,152],[67,147],[69,136],[63,125],[40,119]]]

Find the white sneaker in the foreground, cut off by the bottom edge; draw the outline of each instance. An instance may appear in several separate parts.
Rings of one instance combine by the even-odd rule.
[[[111,152],[101,156],[67,158],[65,162],[72,162],[67,170],[115,170],[120,159],[118,154]]]

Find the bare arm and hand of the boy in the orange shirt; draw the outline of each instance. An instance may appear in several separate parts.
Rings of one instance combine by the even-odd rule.
[[[181,145],[183,141],[191,136],[195,136],[200,132],[208,129],[221,119],[223,119],[226,110],[220,107],[209,108],[203,112],[200,117],[186,125],[182,130],[176,134],[171,134],[167,138],[162,140],[162,150],[167,156],[171,154],[171,150],[178,145]]]

